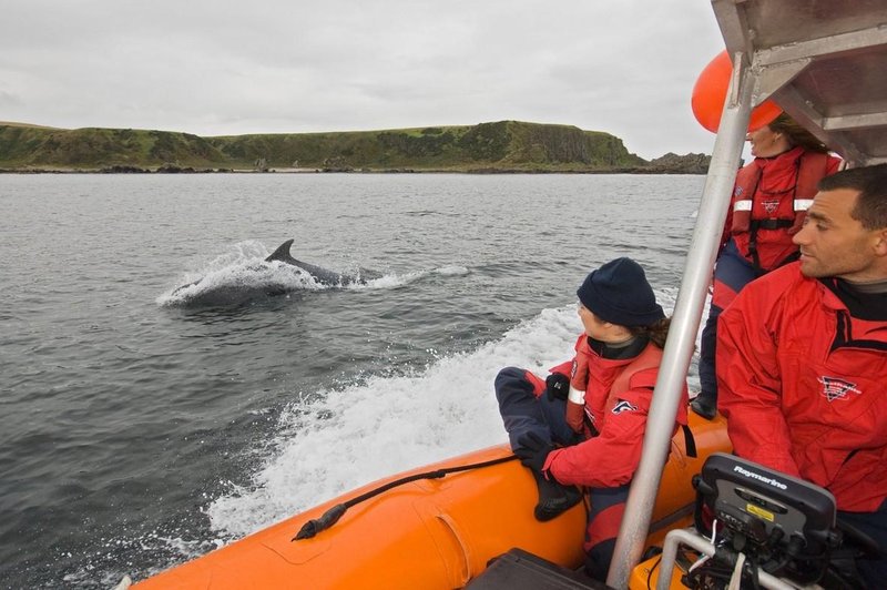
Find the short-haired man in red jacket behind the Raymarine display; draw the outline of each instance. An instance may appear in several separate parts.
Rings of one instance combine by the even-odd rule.
[[[750,284],[717,327],[734,451],[828,489],[887,549],[887,164],[819,182],[798,262]],[[858,560],[884,588],[887,559]]]

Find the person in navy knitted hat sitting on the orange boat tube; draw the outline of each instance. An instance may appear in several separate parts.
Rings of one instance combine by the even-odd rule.
[[[549,520],[581,501],[575,486],[588,491],[585,571],[603,580],[641,458],[670,319],[631,258],[593,271],[577,295],[584,333],[574,358],[544,380],[504,368],[496,377],[496,396],[511,448],[539,488],[536,517]],[[686,425],[686,395],[681,425]]]

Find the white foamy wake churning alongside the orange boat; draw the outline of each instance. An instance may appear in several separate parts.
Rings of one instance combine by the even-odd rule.
[[[492,383],[508,365],[544,373],[572,349],[575,308],[544,309],[493,343],[410,375],[299,391],[279,418],[249,489],[205,510],[222,537],[243,537],[357,486],[507,440]]]

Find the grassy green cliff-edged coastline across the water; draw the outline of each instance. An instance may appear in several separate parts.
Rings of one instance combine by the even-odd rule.
[[[0,172],[467,172],[705,174],[705,154],[646,161],[572,125],[499,121],[384,131],[201,138],[0,122]]]

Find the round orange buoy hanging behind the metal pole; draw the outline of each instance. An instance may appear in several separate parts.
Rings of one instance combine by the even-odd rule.
[[[724,100],[732,74],[733,62],[724,50],[708,62],[693,85],[693,98],[691,99],[693,114],[696,116],[696,121],[712,133],[716,133],[717,125],[721,124],[721,112],[724,110]],[[778,104],[769,99],[765,100],[752,109],[748,118],[748,131],[766,125],[782,112]]]

